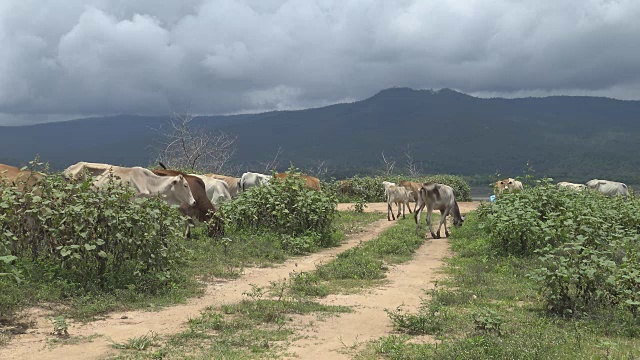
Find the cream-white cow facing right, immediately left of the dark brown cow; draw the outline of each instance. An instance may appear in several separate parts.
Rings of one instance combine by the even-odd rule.
[[[169,205],[194,206],[196,203],[189,184],[182,175],[158,176],[141,167],[113,166],[96,177],[93,185],[100,188],[110,181],[127,184],[136,191],[138,197],[160,195]]]

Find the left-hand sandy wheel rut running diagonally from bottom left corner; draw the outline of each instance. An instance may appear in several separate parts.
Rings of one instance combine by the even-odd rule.
[[[395,222],[378,220],[365,228],[364,232],[350,236],[339,247],[326,249],[308,256],[295,257],[272,268],[247,268],[236,280],[219,281],[207,285],[205,294],[187,301],[186,304],[165,308],[157,312],[125,311],[108,314],[104,320],[86,324],[69,324],[69,334],[76,336],[96,336],[91,342],[58,345],[47,348],[47,338],[52,328],[41,311],[33,320],[35,329],[27,334],[17,335],[6,347],[0,348],[0,359],[101,359],[118,353],[111,347],[114,342],[125,342],[130,338],[146,335],[149,330],[161,336],[175,334],[186,328],[186,321],[200,315],[208,306],[235,303],[242,300],[243,292],[251,290],[251,284],[268,286],[271,281],[286,279],[293,271],[315,270],[316,264],[325,263],[337,254],[357,246],[361,242],[376,238]]]

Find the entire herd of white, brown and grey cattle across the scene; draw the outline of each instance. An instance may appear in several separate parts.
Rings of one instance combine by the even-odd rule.
[[[231,200],[239,193],[247,191],[255,186],[263,186],[274,180],[282,180],[287,173],[278,173],[275,176],[254,172],[246,172],[241,177],[219,174],[185,174],[180,171],[167,169],[162,163],[162,168],[148,170],[142,167],[122,167],[109,164],[79,162],[71,165],[63,171],[63,175],[68,180],[85,180],[87,176],[94,178],[93,185],[96,189],[105,186],[110,182],[127,184],[134,189],[139,197],[155,197],[160,195],[170,205],[177,205],[180,211],[187,215],[189,219],[197,219],[201,222],[209,223],[209,234],[211,236],[222,233],[222,224],[215,215],[216,208],[222,202]],[[28,170],[20,170],[16,167],[0,164],[0,179],[8,180],[18,189],[33,187],[44,175]],[[300,175],[308,188],[320,190],[320,180],[318,178]],[[395,220],[392,204],[398,207],[397,217],[405,217],[405,208],[409,212],[415,211],[416,230],[420,221],[420,214],[427,208],[427,224],[431,235],[434,238],[440,237],[440,228],[444,225],[445,234],[449,232],[446,224],[446,217],[453,216],[454,226],[461,226],[464,217],[460,214],[458,203],[456,202],[453,189],[450,186],[436,183],[417,183],[413,181],[400,181],[398,184],[384,181],[385,200],[387,201],[387,220]],[[594,189],[608,196],[621,195],[627,197],[629,190],[627,185],[609,181],[594,179],[586,184],[573,184],[560,182],[560,188],[581,191],[583,189]],[[508,178],[495,183],[495,193],[501,194],[505,191],[522,190],[522,182]],[[416,205],[412,211],[410,203]],[[431,230],[431,213],[439,210],[441,213],[440,226],[434,234]],[[213,221],[211,221],[213,219]],[[187,236],[189,235],[187,227]]]

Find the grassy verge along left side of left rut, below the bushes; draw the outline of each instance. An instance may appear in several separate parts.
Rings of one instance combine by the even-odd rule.
[[[336,230],[333,242],[339,244],[354,232],[362,231],[366,224],[382,218],[381,214],[341,212],[334,224]],[[11,303],[12,308],[26,306],[43,306],[52,311],[54,316],[62,315],[79,321],[89,321],[100,314],[116,310],[148,309],[182,303],[186,299],[202,293],[204,283],[212,278],[235,278],[242,273],[244,267],[271,266],[297,254],[295,248],[283,246],[278,235],[245,235],[228,234],[219,241],[213,241],[205,235],[204,227],[193,231],[193,238],[186,242],[188,257],[182,266],[183,276],[167,286],[161,292],[144,294],[135,287],[120,289],[112,293],[79,296],[77,290],[63,279],[50,281],[47,274],[31,276],[32,279],[47,279],[42,282],[23,282],[16,284],[7,280],[2,283],[0,302]],[[291,238],[289,243],[304,238]],[[318,248],[310,248],[317,251]],[[3,317],[0,314],[0,319]],[[26,328],[28,324],[19,324],[19,318],[5,319],[16,326]],[[11,331],[18,331],[12,329]],[[0,331],[0,345],[8,341],[8,334]]]

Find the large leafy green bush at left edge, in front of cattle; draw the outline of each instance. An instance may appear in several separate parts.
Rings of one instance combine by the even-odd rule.
[[[131,287],[153,293],[178,276],[184,227],[177,209],[159,198],[135,198],[118,184],[97,191],[91,180],[51,174],[24,193],[2,190],[0,272],[13,267],[79,294]]]

